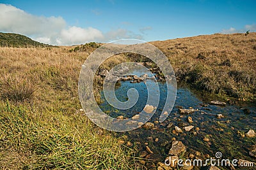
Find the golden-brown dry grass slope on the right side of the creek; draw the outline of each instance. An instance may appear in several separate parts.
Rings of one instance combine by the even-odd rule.
[[[197,89],[256,100],[256,33],[213,34],[154,41],[176,76]]]

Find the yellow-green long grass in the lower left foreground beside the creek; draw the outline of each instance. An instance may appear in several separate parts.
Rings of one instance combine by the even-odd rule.
[[[0,103],[0,167],[10,169],[136,169],[132,150],[109,132],[98,135],[83,114]]]

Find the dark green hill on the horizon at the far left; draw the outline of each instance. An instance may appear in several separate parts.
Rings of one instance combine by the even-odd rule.
[[[3,33],[0,32],[0,46],[9,47],[45,47],[50,45],[45,45],[37,41],[32,40],[26,36],[13,33]]]

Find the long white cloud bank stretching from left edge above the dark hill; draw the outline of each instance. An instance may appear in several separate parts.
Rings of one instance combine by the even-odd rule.
[[[110,41],[121,38],[142,39],[140,34],[116,29],[102,34],[93,27],[69,26],[62,17],[38,17],[12,5],[0,4],[0,32],[24,34],[51,45],[79,45],[88,41]]]

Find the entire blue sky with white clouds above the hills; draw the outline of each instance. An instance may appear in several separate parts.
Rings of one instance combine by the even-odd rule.
[[[254,32],[255,6],[255,0],[0,0],[0,32],[52,45]]]

